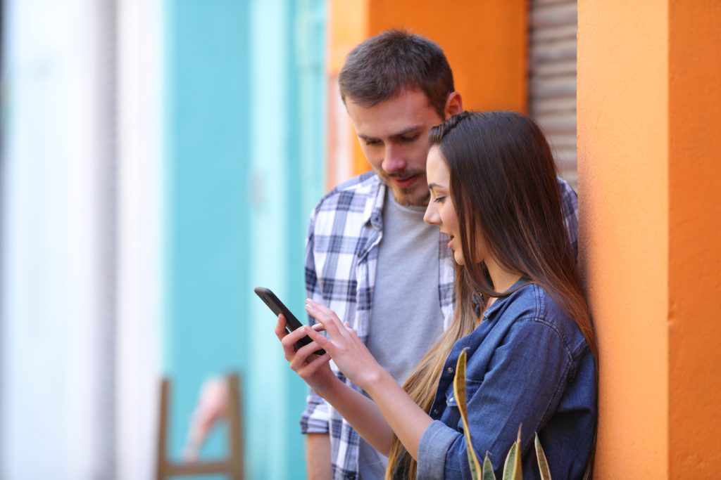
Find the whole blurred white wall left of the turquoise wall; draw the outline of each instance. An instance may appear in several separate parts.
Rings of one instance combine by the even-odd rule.
[[[2,479],[154,463],[162,1],[118,3],[5,2]]]

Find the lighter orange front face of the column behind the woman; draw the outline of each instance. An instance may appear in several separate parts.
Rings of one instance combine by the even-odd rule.
[[[668,13],[647,4],[578,2],[579,243],[601,355],[599,479],[666,475]]]

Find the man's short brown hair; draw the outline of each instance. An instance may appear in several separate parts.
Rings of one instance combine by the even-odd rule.
[[[358,44],[338,75],[340,98],[373,107],[404,90],[423,91],[428,103],[446,117],[453,73],[435,42],[404,30],[387,30]]]

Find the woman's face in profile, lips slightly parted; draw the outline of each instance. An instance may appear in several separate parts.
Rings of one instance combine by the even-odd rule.
[[[451,200],[451,172],[448,171],[448,164],[438,145],[433,145],[428,150],[425,172],[428,178],[430,201],[428,201],[428,208],[425,209],[423,220],[430,225],[437,226],[441,232],[451,235],[448,248],[453,250],[456,263],[464,265],[458,215]]]

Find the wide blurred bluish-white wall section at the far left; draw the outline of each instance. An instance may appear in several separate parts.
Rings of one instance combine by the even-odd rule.
[[[81,0],[6,7],[1,476],[90,478],[106,413],[95,17]]]

